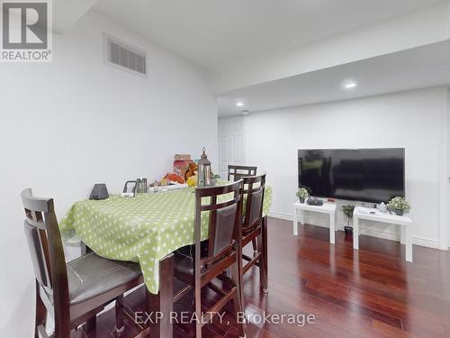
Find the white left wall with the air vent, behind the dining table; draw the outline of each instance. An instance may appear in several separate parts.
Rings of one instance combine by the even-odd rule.
[[[148,52],[148,78],[103,65],[103,32]],[[95,182],[161,178],[176,152],[217,163],[216,103],[184,60],[93,13],[54,37],[53,60],[0,64],[1,337],[31,337],[34,318],[23,188],[60,218]]]

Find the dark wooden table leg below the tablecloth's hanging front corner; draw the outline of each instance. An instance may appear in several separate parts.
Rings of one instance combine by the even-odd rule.
[[[148,314],[159,314],[150,323],[151,338],[172,338],[174,336],[170,316],[174,310],[174,254],[159,260],[159,292],[151,294],[147,290]]]

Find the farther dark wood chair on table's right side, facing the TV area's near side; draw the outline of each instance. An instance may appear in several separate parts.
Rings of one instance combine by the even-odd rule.
[[[242,248],[253,242],[253,257],[242,255],[247,261],[241,264],[241,274],[244,275],[251,267],[259,268],[260,287],[267,293],[267,224],[263,217],[264,190],[266,174],[242,178],[244,182],[245,216],[242,224]],[[255,242],[257,246],[255,248]]]

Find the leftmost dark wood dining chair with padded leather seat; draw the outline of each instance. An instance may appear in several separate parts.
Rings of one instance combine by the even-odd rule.
[[[55,215],[53,199],[22,192],[24,231],[36,282],[35,338],[68,338],[86,323],[94,329],[96,315],[116,302],[117,335],[123,331],[120,314],[123,293],[143,283],[139,265],[106,260],[89,252],[68,263]],[[47,312],[55,322],[54,334],[46,333]]]

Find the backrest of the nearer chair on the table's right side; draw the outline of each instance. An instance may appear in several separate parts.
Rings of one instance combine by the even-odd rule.
[[[195,189],[196,257],[200,257],[202,215],[209,213],[208,254],[207,257],[202,257],[202,264],[220,260],[237,245],[241,235],[240,201],[242,194],[242,180],[221,187],[197,187]]]

